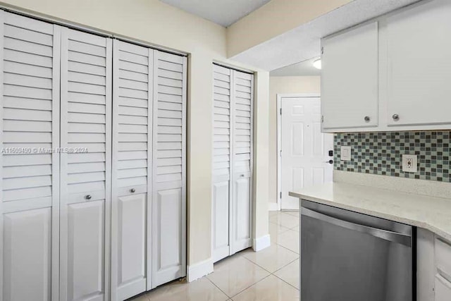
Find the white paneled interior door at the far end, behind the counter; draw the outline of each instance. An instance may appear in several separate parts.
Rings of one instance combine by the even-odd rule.
[[[281,209],[299,209],[299,199],[288,192],[332,180],[333,134],[321,133],[319,97],[281,99]]]

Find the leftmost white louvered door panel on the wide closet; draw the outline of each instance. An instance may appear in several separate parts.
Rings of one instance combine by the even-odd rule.
[[[0,20],[0,300],[56,301],[60,28]]]

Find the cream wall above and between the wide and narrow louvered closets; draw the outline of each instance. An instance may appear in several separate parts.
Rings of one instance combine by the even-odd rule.
[[[226,29],[158,0],[5,0],[3,6],[76,23],[189,53],[187,135],[188,265],[211,257],[211,155],[213,61],[226,59]],[[236,64],[235,64],[236,65]],[[242,66],[250,68],[249,66]],[[268,140],[268,73],[256,71],[257,144]],[[265,121],[266,120],[266,121]],[[267,234],[268,156],[256,159],[257,219],[254,231]],[[260,180],[259,180],[260,181]],[[261,204],[263,203],[263,204]],[[261,228],[260,225],[264,225]],[[266,228],[265,228],[266,227]],[[261,234],[261,235],[264,235]]]

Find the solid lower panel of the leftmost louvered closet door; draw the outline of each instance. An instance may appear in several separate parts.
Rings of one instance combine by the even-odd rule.
[[[3,243],[3,300],[51,300],[51,208],[4,214]]]

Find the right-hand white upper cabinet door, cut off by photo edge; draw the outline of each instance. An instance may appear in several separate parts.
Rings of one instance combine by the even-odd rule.
[[[450,16],[435,0],[388,18],[388,125],[451,123]]]

